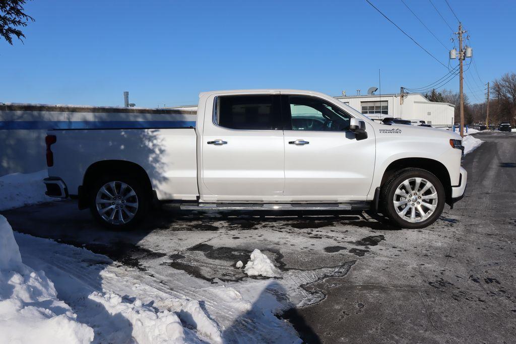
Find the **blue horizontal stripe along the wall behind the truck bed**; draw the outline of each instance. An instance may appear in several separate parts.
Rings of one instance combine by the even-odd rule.
[[[117,129],[188,128],[195,121],[0,121],[0,130],[15,129]]]

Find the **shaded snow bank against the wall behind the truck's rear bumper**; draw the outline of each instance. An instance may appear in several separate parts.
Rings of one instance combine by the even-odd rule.
[[[57,200],[45,195],[43,179],[47,176],[46,170],[0,176],[0,210]]]

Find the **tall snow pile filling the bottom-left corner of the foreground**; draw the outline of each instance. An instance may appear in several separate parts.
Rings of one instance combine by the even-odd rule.
[[[11,226],[0,215],[0,336],[6,343],[89,343],[91,327],[79,323],[57,299],[45,274],[22,263]]]

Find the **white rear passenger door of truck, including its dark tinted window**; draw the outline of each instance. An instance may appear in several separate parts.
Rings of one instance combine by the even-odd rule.
[[[201,143],[202,200],[273,201],[281,196],[285,151],[280,96],[220,95],[210,117],[204,118]]]

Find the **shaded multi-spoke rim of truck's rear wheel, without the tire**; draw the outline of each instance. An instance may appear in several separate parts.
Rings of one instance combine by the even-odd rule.
[[[123,182],[109,182],[97,192],[95,206],[104,221],[124,224],[136,215],[138,196],[132,187]]]

